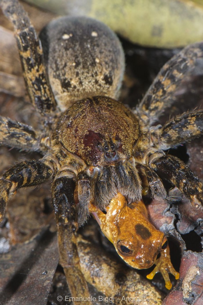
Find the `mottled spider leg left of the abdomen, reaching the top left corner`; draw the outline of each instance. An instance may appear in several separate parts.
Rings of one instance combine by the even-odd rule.
[[[17,0],[1,0],[3,13],[13,23],[23,76],[32,104],[42,114],[51,114],[56,102],[47,81],[42,47],[29,17]]]

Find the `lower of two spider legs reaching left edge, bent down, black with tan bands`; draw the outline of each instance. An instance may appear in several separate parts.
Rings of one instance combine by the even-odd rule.
[[[47,164],[46,164],[47,163]],[[3,220],[9,195],[18,188],[41,184],[54,174],[47,160],[20,162],[7,170],[0,178],[0,222]]]

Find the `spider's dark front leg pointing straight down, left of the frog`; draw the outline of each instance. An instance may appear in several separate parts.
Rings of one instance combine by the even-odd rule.
[[[76,244],[77,209],[74,203],[75,174],[58,172],[52,184],[52,204],[56,215],[60,263],[72,296],[89,297]],[[82,302],[83,303],[83,302]],[[81,303],[81,304],[82,304]],[[91,304],[88,301],[86,304]]]

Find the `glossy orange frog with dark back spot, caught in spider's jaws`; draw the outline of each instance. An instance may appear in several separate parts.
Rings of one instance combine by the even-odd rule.
[[[171,264],[167,238],[149,222],[142,200],[128,205],[125,197],[117,193],[110,201],[106,214],[92,204],[89,210],[103,234],[114,244],[117,253],[128,265],[146,269],[156,264],[147,278],[152,279],[157,272],[161,272],[166,288],[171,289],[168,272],[176,279],[179,278],[179,273]],[[161,256],[156,260],[158,253]]]

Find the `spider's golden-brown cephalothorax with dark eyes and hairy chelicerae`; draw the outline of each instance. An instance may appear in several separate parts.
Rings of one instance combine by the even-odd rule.
[[[63,147],[87,164],[90,198],[97,207],[104,209],[117,191],[129,201],[141,199],[133,158],[139,125],[124,105],[102,96],[80,100],[62,114],[57,133]],[[90,198],[79,205],[88,205]]]

